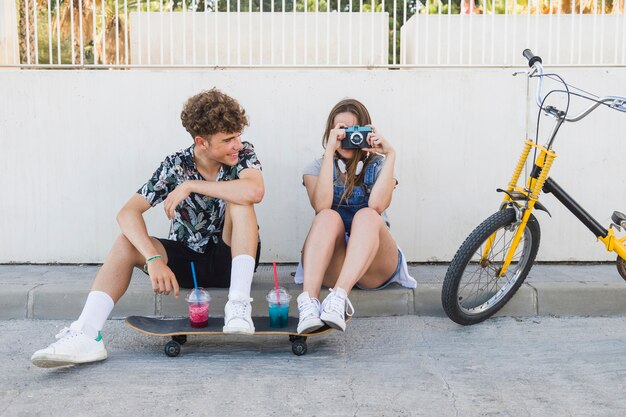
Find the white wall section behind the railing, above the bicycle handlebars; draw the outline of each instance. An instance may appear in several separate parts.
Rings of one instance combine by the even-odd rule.
[[[400,62],[522,65],[531,48],[551,65],[626,64],[626,20],[615,15],[414,15]]]

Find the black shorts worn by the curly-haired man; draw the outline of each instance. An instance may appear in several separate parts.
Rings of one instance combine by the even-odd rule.
[[[189,249],[183,243],[169,239],[159,239],[167,253],[167,266],[176,275],[180,288],[193,288],[191,262],[194,263],[196,279],[199,287],[228,288],[230,287],[230,269],[232,255],[230,246],[220,238],[218,243],[209,243],[205,253]],[[254,270],[259,265],[261,241],[257,246]]]

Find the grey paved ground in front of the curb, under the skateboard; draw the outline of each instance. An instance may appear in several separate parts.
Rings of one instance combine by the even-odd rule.
[[[0,416],[623,416],[624,318],[356,318],[291,354],[282,337],[165,339],[109,321],[109,359],[45,370],[64,323],[0,321]]]

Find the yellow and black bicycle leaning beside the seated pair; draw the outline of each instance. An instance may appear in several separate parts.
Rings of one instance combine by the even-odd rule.
[[[500,209],[483,221],[465,239],[454,255],[444,278],[441,301],[447,316],[462,325],[480,323],[500,310],[524,282],[539,249],[540,228],[533,210],[547,212],[538,200],[541,193],[553,194],[571,211],[604,245],[608,251],[617,254],[617,270],[626,280],[626,236],[618,239],[613,229],[626,229],[626,215],[615,211],[608,230],[583,209],[550,176],[550,168],[556,153],[552,149],[559,128],[565,122],[577,122],[601,105],[626,112],[626,98],[606,96],[597,98],[568,85],[557,74],[544,74],[542,59],[529,49],[523,56],[528,60],[528,82],[537,78],[537,136],[535,141],[526,139],[522,154],[517,162],[513,176],[504,193]],[[550,78],[563,84],[564,90],[554,89],[543,98],[541,96],[543,79]],[[573,92],[570,90],[577,90]],[[566,107],[559,110],[553,105],[546,105],[546,99],[553,93],[566,94]],[[568,116],[571,97],[593,101],[589,107],[574,117]],[[545,145],[539,145],[539,122],[545,114],[555,119],[552,132]],[[525,178],[524,186],[518,182],[522,170],[527,165],[533,152],[532,169]],[[538,153],[538,155],[537,155]]]

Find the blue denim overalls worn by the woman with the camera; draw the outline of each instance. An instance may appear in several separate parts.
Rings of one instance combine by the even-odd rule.
[[[384,161],[383,158],[376,158],[373,162],[367,165],[365,168],[365,174],[363,177],[363,185],[355,186],[352,195],[348,198],[344,198],[341,201],[341,195],[345,189],[345,185],[340,183],[338,179],[339,173],[337,172],[336,164],[333,165],[333,205],[332,209],[337,211],[343,220],[343,226],[347,234],[350,234],[350,228],[352,227],[352,219],[357,211],[367,207],[367,203],[372,192],[372,187],[376,182],[376,173],[378,167]]]

